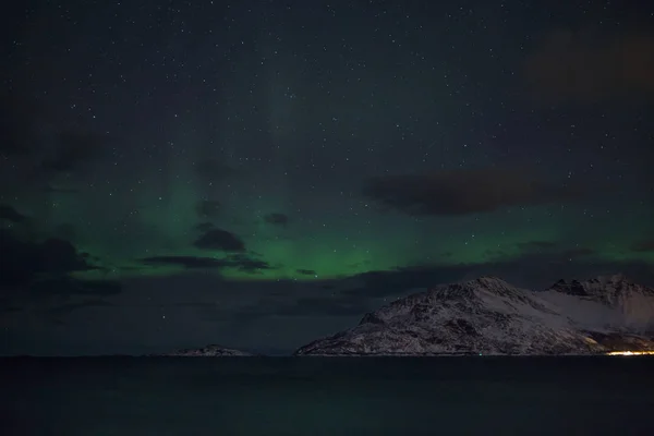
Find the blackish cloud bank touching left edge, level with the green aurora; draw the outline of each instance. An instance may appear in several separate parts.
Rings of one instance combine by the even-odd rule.
[[[0,229],[0,253],[10,253],[9,256],[3,255],[0,262],[0,287],[29,284],[70,272],[97,269],[68,241],[23,241],[5,229]]]

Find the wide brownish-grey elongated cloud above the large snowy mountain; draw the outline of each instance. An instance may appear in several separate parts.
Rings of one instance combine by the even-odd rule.
[[[451,216],[568,202],[579,198],[583,190],[538,181],[523,172],[477,169],[378,177],[367,181],[363,193],[404,214]]]

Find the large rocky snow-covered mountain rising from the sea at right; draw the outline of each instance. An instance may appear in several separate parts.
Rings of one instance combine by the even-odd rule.
[[[654,349],[653,304],[653,290],[620,276],[559,281],[543,292],[482,277],[398,300],[295,354],[552,355]]]

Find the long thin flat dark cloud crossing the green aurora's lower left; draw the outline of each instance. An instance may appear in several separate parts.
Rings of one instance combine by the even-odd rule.
[[[235,268],[240,271],[256,274],[271,269],[267,262],[245,254],[233,254],[223,258],[199,256],[154,256],[141,259],[146,265],[174,265],[186,269]]]

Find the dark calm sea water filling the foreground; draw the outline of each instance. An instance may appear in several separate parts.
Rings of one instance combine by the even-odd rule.
[[[0,360],[0,435],[654,435],[652,358]]]

